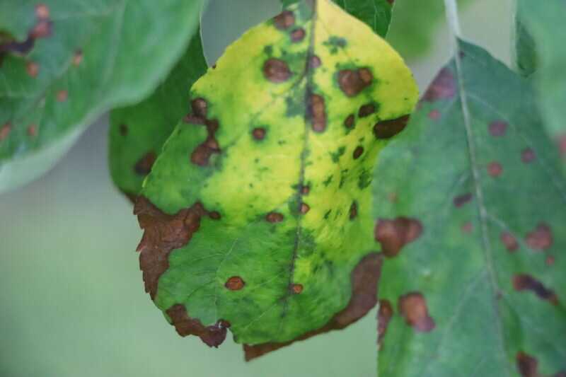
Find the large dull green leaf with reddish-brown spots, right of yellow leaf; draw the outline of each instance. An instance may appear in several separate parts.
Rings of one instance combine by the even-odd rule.
[[[381,376],[566,371],[566,181],[542,127],[529,84],[459,41],[381,153]]]

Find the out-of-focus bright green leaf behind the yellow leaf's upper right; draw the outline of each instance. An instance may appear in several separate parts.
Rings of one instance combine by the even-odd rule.
[[[471,0],[459,0],[466,6]],[[396,0],[387,40],[405,59],[422,57],[434,43],[434,32],[444,19],[438,0]]]

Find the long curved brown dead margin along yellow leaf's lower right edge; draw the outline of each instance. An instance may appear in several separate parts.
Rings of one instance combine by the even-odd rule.
[[[324,332],[342,330],[366,315],[377,303],[377,286],[381,273],[382,258],[378,253],[371,253],[362,258],[356,268],[352,271],[352,296],[348,306],[336,313],[334,317],[323,327],[311,330],[294,340],[283,343],[263,343],[256,345],[244,344],[246,361],[286,347],[298,340],[306,340]]]

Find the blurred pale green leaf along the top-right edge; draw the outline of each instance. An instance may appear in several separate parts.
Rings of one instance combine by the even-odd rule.
[[[566,154],[566,49],[564,48],[564,15],[566,3],[548,0],[541,3],[519,0],[518,18],[534,40],[538,55],[538,71],[534,82],[544,115],[545,126],[551,136],[560,141]],[[535,52],[531,51],[531,54]]]

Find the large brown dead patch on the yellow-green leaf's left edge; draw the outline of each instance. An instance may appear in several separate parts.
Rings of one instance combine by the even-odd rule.
[[[134,214],[137,215],[139,226],[144,229],[144,236],[137,247],[140,252],[139,266],[144,272],[146,292],[154,299],[158,279],[169,268],[169,253],[190,241],[207,211],[197,202],[170,215],[158,209],[146,197],[139,196]]]

